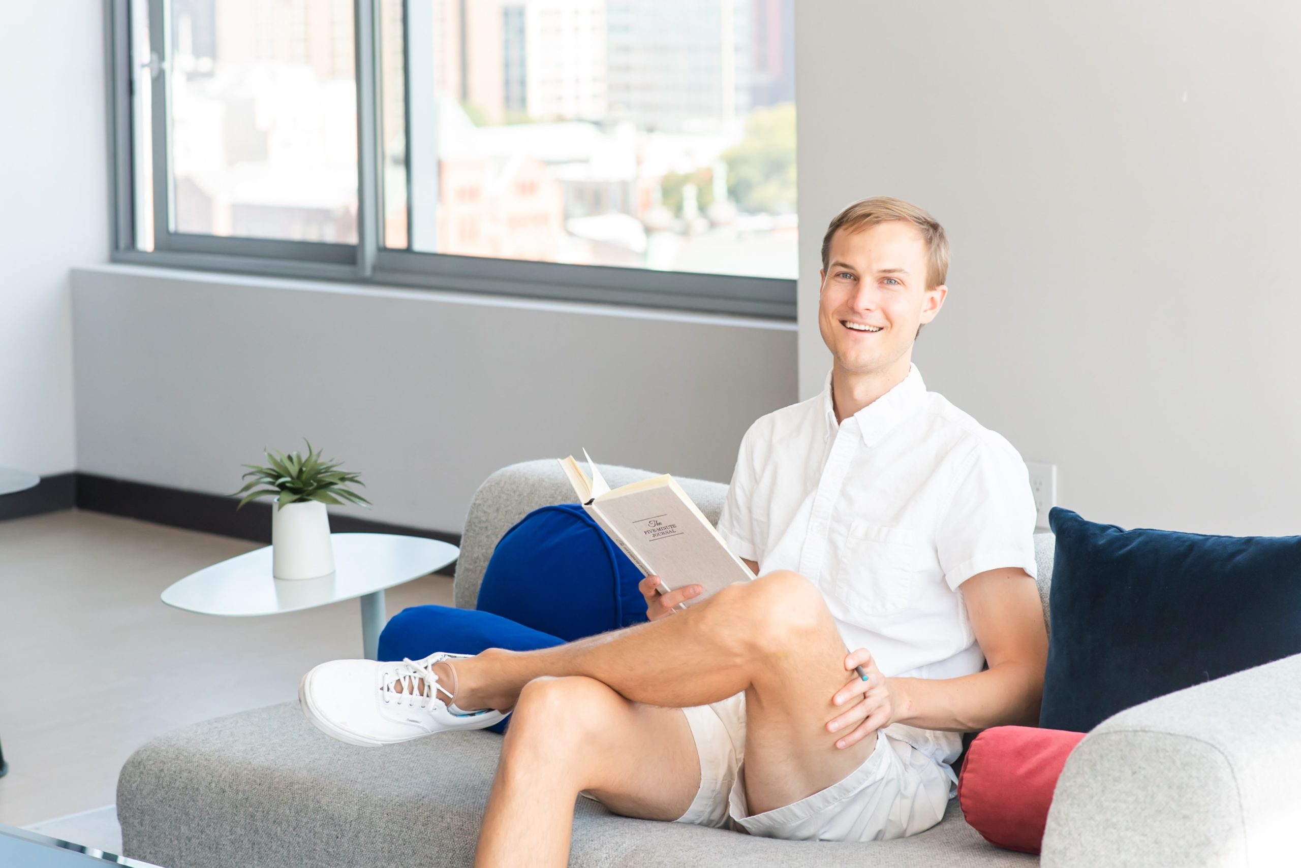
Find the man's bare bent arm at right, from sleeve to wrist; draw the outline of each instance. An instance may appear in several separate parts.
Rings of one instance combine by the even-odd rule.
[[[959,587],[989,670],[960,678],[887,678],[892,722],[959,733],[1036,726],[1049,637],[1034,580],[1020,568],[990,569]]]

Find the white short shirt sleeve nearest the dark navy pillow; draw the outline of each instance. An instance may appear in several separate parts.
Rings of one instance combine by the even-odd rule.
[[[1004,567],[1034,578],[1034,520],[1030,473],[1016,447],[1002,437],[977,446],[935,529],[948,587]]]

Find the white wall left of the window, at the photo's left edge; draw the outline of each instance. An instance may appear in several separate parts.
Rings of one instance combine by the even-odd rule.
[[[103,4],[5,4],[0,466],[75,469],[68,269],[108,259]]]

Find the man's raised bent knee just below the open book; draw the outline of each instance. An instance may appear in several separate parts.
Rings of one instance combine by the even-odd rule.
[[[826,603],[809,580],[792,570],[766,573],[721,590],[718,615],[747,651],[790,650],[825,624]]]

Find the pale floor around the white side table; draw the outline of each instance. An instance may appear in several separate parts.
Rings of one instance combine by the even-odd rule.
[[[316,663],[362,656],[356,600],[212,617],[159,599],[256,547],[78,509],[0,521],[0,823],[116,854],[117,773],[137,747],[291,700]],[[385,598],[390,616],[450,606],[451,580],[427,576]]]

